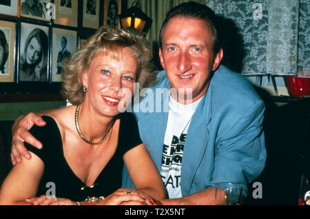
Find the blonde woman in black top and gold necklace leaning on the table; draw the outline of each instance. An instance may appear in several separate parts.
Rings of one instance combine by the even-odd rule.
[[[128,91],[133,94],[135,82],[142,87],[154,82],[151,54],[140,34],[105,26],[94,34],[64,67],[61,92],[74,105],[48,112],[47,124],[31,129],[43,149],[28,145],[33,157],[13,167],[0,204],[152,205],[151,197],[164,198],[133,114],[118,110],[132,98]],[[123,163],[137,190],[118,189]],[[36,195],[43,196],[25,200]]]

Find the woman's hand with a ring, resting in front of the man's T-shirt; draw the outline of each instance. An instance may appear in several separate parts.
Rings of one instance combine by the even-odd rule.
[[[99,205],[156,205],[156,203],[142,191],[121,188],[101,200]]]

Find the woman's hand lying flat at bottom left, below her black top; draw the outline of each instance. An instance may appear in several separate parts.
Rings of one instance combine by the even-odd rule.
[[[31,205],[76,205],[76,202],[68,198],[56,198],[44,195],[35,198],[26,198],[25,201],[31,203]]]

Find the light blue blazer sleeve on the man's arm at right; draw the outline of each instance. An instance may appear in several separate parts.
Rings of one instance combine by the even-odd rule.
[[[214,182],[240,183],[247,194],[247,183],[265,167],[264,112],[264,103],[256,101],[220,138],[215,151]]]

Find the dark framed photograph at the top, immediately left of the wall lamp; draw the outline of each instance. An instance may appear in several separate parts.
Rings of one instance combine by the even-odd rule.
[[[121,14],[121,0],[105,0],[103,24],[120,26],[118,14]]]

